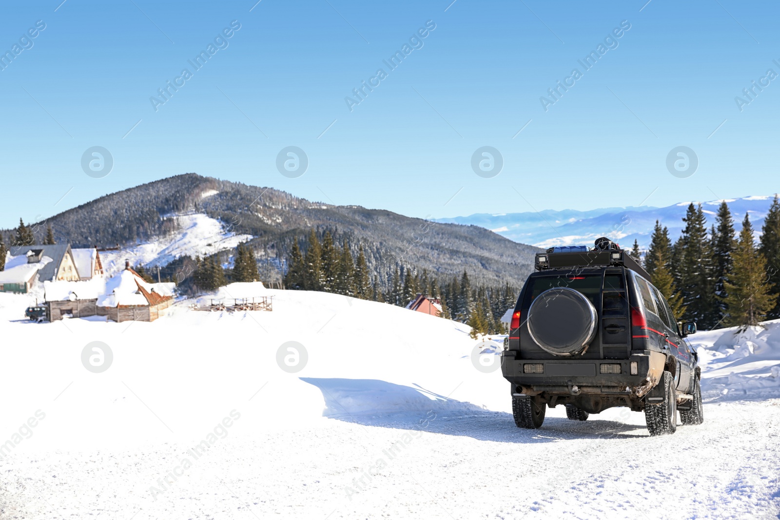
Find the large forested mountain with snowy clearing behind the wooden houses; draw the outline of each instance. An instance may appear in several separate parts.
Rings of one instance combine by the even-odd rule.
[[[211,225],[209,219],[218,222]],[[265,267],[261,269],[264,281],[280,278],[293,242],[311,228],[335,232],[337,242],[347,240],[353,250],[362,245],[370,270],[383,285],[388,285],[396,266],[411,266],[427,269],[431,278],[449,279],[465,269],[475,283],[509,282],[519,287],[533,271],[534,253],[540,250],[476,225],[311,202],[273,188],[194,173],[101,196],[33,224],[39,243],[50,224],[58,243],[119,244],[119,253],[112,253],[116,262],[128,255],[148,265],[171,260],[183,251],[204,255],[222,250],[220,260],[229,262],[236,242],[231,237],[238,237],[255,249]],[[8,237],[12,230],[0,232]],[[211,232],[213,239],[204,232]]]

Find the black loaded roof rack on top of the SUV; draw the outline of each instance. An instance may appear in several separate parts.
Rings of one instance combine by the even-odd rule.
[[[562,248],[551,247],[546,253],[536,253],[534,267],[537,271],[551,269],[572,269],[588,267],[626,267],[636,271],[640,276],[652,281],[650,274],[634,260],[625,249],[609,239],[596,240],[596,247],[590,250],[575,250],[568,252]]]

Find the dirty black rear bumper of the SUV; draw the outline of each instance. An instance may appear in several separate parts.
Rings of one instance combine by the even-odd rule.
[[[501,369],[512,392],[523,394],[647,394],[660,380],[665,362],[661,352],[643,351],[629,359],[516,359],[505,351]],[[636,374],[631,373],[636,363]],[[523,366],[541,365],[542,373],[526,373]],[[601,373],[601,365],[619,365],[620,373]]]

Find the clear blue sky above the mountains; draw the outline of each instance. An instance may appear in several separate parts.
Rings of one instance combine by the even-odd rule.
[[[2,6],[0,227],[184,172],[432,218],[778,191],[775,2],[61,1]]]

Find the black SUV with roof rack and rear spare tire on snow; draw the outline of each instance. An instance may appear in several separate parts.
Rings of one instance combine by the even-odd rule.
[[[512,313],[502,373],[521,428],[539,428],[545,407],[584,421],[613,406],[644,411],[651,435],[704,421],[700,368],[650,276],[609,239],[595,247],[537,253]]]

